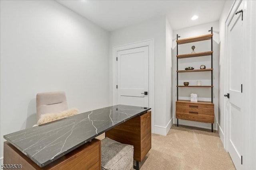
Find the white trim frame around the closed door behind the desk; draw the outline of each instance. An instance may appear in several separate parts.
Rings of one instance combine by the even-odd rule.
[[[154,111],[154,39],[134,42],[130,44],[120,45],[112,48],[112,104],[117,104],[117,62],[116,57],[118,51],[135,49],[148,46],[148,107],[151,107],[151,129],[154,133],[155,111]]]

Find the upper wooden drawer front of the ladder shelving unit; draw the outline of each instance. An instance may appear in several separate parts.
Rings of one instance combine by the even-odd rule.
[[[176,111],[214,116],[214,104],[176,102]]]

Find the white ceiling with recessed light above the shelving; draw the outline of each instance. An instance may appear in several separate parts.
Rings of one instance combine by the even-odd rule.
[[[166,15],[172,29],[218,21],[224,0],[57,0],[100,27],[114,31]],[[197,15],[197,20],[191,20]]]

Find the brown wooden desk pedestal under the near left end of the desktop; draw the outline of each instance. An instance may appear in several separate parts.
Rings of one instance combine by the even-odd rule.
[[[23,170],[101,170],[101,143],[86,143],[54,162],[40,167],[16,147],[4,142],[4,164],[21,164]]]

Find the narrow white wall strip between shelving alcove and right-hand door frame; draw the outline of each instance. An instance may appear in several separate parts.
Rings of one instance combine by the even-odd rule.
[[[218,133],[220,139],[224,144],[224,133],[225,133],[225,114],[224,114],[224,90],[225,90],[225,21],[227,19],[228,13],[233,4],[233,0],[227,0],[222,10],[222,14],[219,20],[220,26],[220,61],[219,61],[219,108],[218,108]]]

